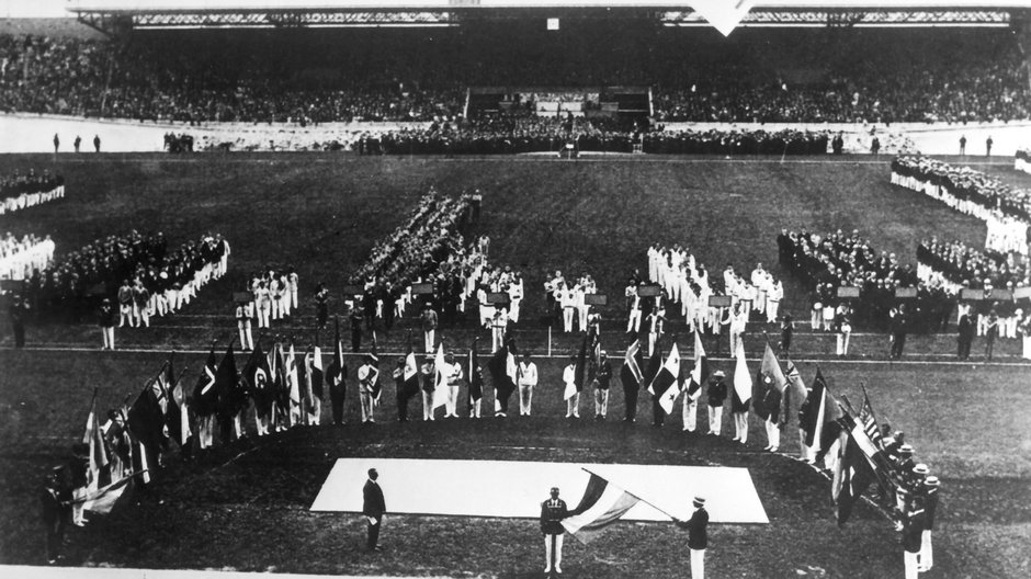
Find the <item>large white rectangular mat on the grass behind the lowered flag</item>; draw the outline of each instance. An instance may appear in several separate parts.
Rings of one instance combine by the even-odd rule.
[[[705,497],[714,523],[769,523],[747,468],[670,465],[340,458],[322,484],[313,511],[362,511],[367,472],[379,473],[387,513],[539,518],[552,487],[576,508],[590,475],[584,468],[688,519],[695,496]],[[623,520],[669,521],[639,502]]]

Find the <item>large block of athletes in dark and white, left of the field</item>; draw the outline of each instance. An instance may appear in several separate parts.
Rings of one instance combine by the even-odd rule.
[[[178,311],[204,284],[220,277],[228,252],[220,236],[205,235],[169,250],[160,232],[134,230],[98,239],[34,270],[20,293],[46,318],[79,321],[103,305],[109,319],[102,322],[148,326],[151,316]]]

